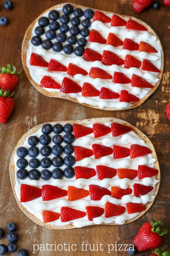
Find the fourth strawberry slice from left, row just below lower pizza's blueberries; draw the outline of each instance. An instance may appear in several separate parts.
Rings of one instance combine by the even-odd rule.
[[[107,188],[100,187],[98,185],[89,185],[89,192],[91,200],[97,201],[101,200],[103,196],[111,196],[111,191]]]

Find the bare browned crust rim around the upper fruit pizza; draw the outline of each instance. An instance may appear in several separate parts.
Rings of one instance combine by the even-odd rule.
[[[52,6],[51,8],[45,10],[43,13],[40,14],[40,16],[37,17],[37,19],[35,19],[31,24],[30,26],[28,27],[27,31],[26,31],[26,34],[24,36],[24,39],[23,39],[23,43],[22,43],[22,52],[21,52],[21,56],[22,56],[22,62],[23,62],[23,68],[26,72],[26,75],[27,75],[27,78],[28,80],[30,81],[30,83],[34,86],[35,89],[37,89],[39,92],[41,92],[42,94],[44,94],[45,96],[48,96],[48,97],[54,97],[54,98],[63,98],[63,99],[69,99],[70,101],[74,101],[74,102],[77,102],[79,104],[82,104],[82,105],[85,105],[85,106],[89,106],[91,108],[97,108],[97,109],[101,109],[99,108],[99,106],[92,106],[92,105],[89,105],[89,104],[85,104],[85,103],[81,103],[79,102],[76,98],[73,98],[71,96],[69,96],[68,94],[65,94],[65,93],[60,93],[60,92],[48,92],[46,91],[44,88],[40,87],[40,85],[38,85],[30,76],[30,72],[27,68],[27,50],[28,50],[28,43],[29,43],[29,40],[31,39],[31,33],[32,33],[32,30],[34,28],[34,25],[35,23],[37,22],[37,20],[43,16],[44,13],[50,11],[50,10],[53,10],[53,9],[56,9],[56,8],[60,8],[60,7],[63,7],[66,3],[62,3],[62,4],[57,4],[55,6]],[[74,8],[87,8],[85,6],[81,6],[79,4],[73,4],[72,3],[72,6]],[[96,9],[93,9],[94,11],[96,11]],[[103,13],[105,14],[110,14],[110,12],[105,12],[105,11],[102,11]],[[120,15],[120,14],[119,14]],[[122,17],[128,17],[129,19],[132,19],[132,20],[135,20],[136,22],[142,24],[143,26],[145,26],[148,30],[149,33],[151,33],[152,35],[156,36],[157,37],[157,42],[159,44],[159,46],[161,47],[161,56],[162,56],[162,68],[160,70],[160,73],[159,75],[157,76],[160,80],[156,83],[156,85],[154,85],[154,87],[152,89],[150,89],[150,91],[142,98],[140,99],[140,101],[138,102],[133,102],[133,105],[130,106],[129,108],[122,108],[122,109],[118,109],[118,108],[103,108],[103,110],[108,110],[108,111],[116,111],[116,110],[124,110],[124,109],[130,109],[130,108],[136,108],[137,106],[140,106],[143,102],[146,101],[146,99],[152,95],[152,93],[154,91],[156,91],[156,89],[158,88],[159,84],[160,84],[160,81],[161,81],[161,78],[162,78],[162,75],[163,75],[163,66],[164,66],[164,55],[163,55],[163,49],[162,49],[162,45],[160,43],[160,40],[159,40],[159,37],[156,35],[156,33],[154,32],[154,30],[148,25],[146,24],[145,22],[143,22],[142,20],[139,20],[139,19],[136,19],[135,17],[132,17],[132,16],[127,16],[127,15],[121,15]]]

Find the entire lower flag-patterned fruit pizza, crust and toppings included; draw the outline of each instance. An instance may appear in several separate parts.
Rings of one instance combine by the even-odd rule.
[[[134,221],[160,180],[152,143],[116,118],[37,125],[18,142],[10,177],[20,208],[51,229]]]

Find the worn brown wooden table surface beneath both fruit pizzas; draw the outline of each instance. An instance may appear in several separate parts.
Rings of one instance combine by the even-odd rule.
[[[23,70],[21,62],[21,44],[30,23],[44,10],[55,4],[62,3],[58,0],[14,0],[14,9],[6,10],[0,1],[0,17],[7,16],[9,25],[0,26],[0,66],[7,63],[15,65],[18,70]],[[24,70],[19,75],[19,84],[14,94],[15,108],[6,122],[0,124],[0,227],[4,228],[13,221],[17,223],[19,241],[18,249],[26,248],[29,255],[128,255],[128,252],[114,251],[108,253],[108,244],[131,244],[140,226],[146,221],[162,220],[170,232],[170,204],[169,204],[169,127],[170,122],[166,117],[165,108],[170,98],[168,93],[170,75],[170,7],[161,6],[160,10],[148,8],[143,13],[133,11],[132,0],[74,0],[77,4],[99,10],[135,16],[148,23],[159,36],[165,58],[163,79],[159,88],[146,102],[135,109],[125,111],[104,111],[88,108],[75,102],[64,99],[48,98],[36,91],[26,78]],[[20,210],[14,198],[9,177],[9,162],[17,141],[30,128],[37,124],[50,121],[76,120],[93,117],[116,117],[130,122],[139,128],[152,141],[157,152],[161,170],[161,185],[153,206],[144,216],[133,223],[122,226],[90,226],[72,230],[50,230],[38,226]],[[169,237],[164,239],[164,244],[169,244]],[[101,243],[103,250],[81,250],[81,244]],[[8,244],[6,239],[0,243]],[[76,251],[45,251],[33,253],[33,244],[77,244]],[[42,249],[42,248],[41,248]],[[65,247],[68,249],[68,246]],[[74,249],[74,248],[73,248]],[[111,246],[110,246],[111,249]],[[137,253],[149,256],[151,251]],[[7,255],[10,255],[8,253]],[[11,255],[17,255],[13,253]]]

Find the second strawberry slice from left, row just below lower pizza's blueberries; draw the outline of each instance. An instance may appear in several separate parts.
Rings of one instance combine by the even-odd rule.
[[[59,197],[67,196],[67,190],[52,186],[43,185],[42,186],[42,198],[43,201],[50,201]]]

